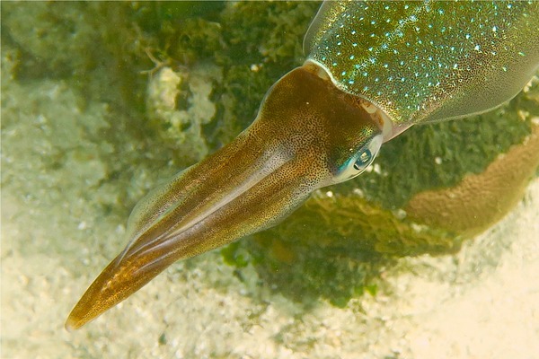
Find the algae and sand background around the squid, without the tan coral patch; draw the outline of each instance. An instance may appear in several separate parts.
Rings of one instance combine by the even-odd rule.
[[[230,142],[302,64],[318,6],[1,3],[2,357],[539,357],[537,165],[499,171],[535,177],[494,225],[409,215],[499,153],[538,153],[537,76],[487,114],[412,128],[278,227],[64,329],[137,200]]]

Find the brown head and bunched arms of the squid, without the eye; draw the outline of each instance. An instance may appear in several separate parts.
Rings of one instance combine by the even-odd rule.
[[[234,142],[137,205],[128,247],[90,285],[66,328],[82,327],[179,259],[278,223],[314,189],[335,182],[381,124],[317,74],[305,65],[285,75]]]

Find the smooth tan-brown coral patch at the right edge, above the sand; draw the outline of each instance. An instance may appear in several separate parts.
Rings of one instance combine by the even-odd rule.
[[[420,192],[406,212],[431,227],[477,234],[520,201],[538,167],[539,124],[523,144],[513,145],[482,173],[467,175],[453,188]]]

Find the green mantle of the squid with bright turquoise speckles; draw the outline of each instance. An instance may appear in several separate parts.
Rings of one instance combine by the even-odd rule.
[[[402,129],[508,101],[539,65],[539,2],[327,2],[304,42]]]

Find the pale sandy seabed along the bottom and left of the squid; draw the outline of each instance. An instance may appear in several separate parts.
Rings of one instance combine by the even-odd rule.
[[[36,93],[64,107],[55,121],[84,116],[61,83],[41,83]],[[46,110],[15,110],[9,100],[3,115],[20,118],[2,133],[2,358],[539,358],[539,180],[457,255],[403,258],[375,297],[344,309],[320,302],[307,311],[271,293],[251,267],[240,281],[214,251],[173,265],[68,333],[67,314],[125,245],[125,229],[86,199],[109,192],[84,196],[77,184],[101,180],[99,158],[74,155],[48,171],[40,162],[48,142],[23,139],[53,131],[50,138],[68,141],[73,132],[62,135],[64,127],[48,127]]]

